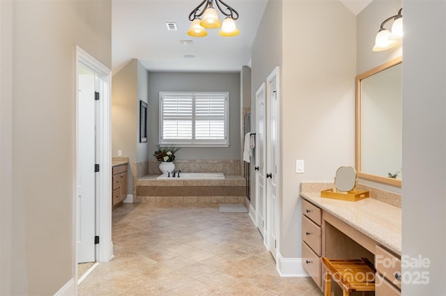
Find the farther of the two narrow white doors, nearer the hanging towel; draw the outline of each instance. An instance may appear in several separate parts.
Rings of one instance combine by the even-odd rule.
[[[266,108],[265,108],[265,83],[261,85],[256,92],[256,224],[265,243],[265,215],[266,215],[266,200],[265,200],[265,176],[266,176],[266,147],[265,147],[265,132],[266,132]]]

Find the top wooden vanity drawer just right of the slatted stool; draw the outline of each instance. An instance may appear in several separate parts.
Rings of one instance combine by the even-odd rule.
[[[401,259],[383,247],[376,246],[375,268],[391,283],[401,289]]]

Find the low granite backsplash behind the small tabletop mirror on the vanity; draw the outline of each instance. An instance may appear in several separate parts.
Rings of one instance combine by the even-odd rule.
[[[325,189],[333,188],[332,182],[302,182],[300,183],[300,192],[321,192]],[[356,189],[369,191],[369,197],[377,201],[388,203],[395,207],[401,208],[401,194],[388,192],[383,189],[363,185],[357,183]]]

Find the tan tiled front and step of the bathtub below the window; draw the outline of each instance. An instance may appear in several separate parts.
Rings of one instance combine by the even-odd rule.
[[[245,203],[245,178],[225,174],[225,180],[157,180],[139,178],[137,203]]]

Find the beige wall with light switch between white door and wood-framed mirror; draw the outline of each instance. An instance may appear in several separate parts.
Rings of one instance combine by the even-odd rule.
[[[283,36],[280,252],[300,258],[300,182],[354,166],[355,15],[339,1],[284,1]]]

